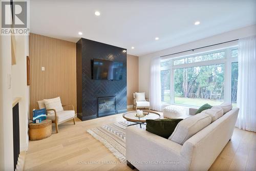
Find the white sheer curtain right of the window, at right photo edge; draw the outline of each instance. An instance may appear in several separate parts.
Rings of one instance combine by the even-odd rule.
[[[236,126],[256,132],[256,36],[239,39]]]

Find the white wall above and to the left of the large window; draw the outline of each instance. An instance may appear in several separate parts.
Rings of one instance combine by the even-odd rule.
[[[239,39],[256,35],[256,25],[233,30],[230,32],[218,34],[215,36],[207,37],[197,41],[189,42],[173,48],[168,48],[162,51],[154,52],[151,54],[139,56],[139,91],[145,92],[148,96],[149,84],[150,84],[150,65],[153,57],[159,57],[167,54],[177,53],[190,49],[200,48],[208,45],[214,45],[221,42]]]

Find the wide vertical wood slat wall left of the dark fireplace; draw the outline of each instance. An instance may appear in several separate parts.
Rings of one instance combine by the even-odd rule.
[[[30,33],[30,115],[38,100],[60,96],[76,111],[76,44]],[[41,71],[45,67],[45,71]]]

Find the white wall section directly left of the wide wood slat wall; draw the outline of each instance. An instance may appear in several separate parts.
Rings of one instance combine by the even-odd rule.
[[[16,65],[12,66],[12,98],[21,97],[19,102],[20,151],[28,149],[29,87],[27,86],[28,36],[16,38]]]

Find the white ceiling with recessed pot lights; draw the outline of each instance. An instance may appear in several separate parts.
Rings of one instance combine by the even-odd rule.
[[[32,33],[74,42],[83,37],[138,56],[253,24],[253,0],[30,1]]]

